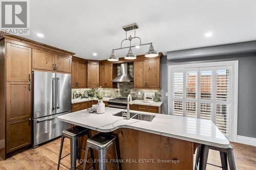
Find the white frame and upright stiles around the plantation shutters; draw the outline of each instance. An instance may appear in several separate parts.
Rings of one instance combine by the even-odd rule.
[[[237,124],[238,124],[238,65],[239,65],[239,61],[238,60],[234,60],[234,61],[218,61],[218,62],[205,62],[205,63],[188,63],[188,64],[179,64],[179,65],[169,65],[168,66],[168,114],[172,114],[172,108],[173,108],[173,91],[172,91],[172,87],[173,87],[173,70],[175,69],[175,72],[184,72],[183,74],[183,89],[186,91],[186,81],[184,81],[186,79],[186,72],[187,70],[190,69],[194,69],[195,67],[199,67],[198,68],[198,77],[197,79],[200,79],[200,75],[201,75],[201,71],[200,71],[200,67],[226,67],[229,66],[230,67],[230,71],[232,71],[232,74],[230,75],[230,88],[229,88],[229,97],[230,97],[230,103],[231,103],[231,107],[229,110],[229,141],[237,141]],[[215,75],[215,74],[213,74]],[[201,83],[200,83],[201,84]],[[198,88],[200,89],[200,84],[198,84]],[[212,82],[212,88],[214,86],[214,82]],[[186,95],[186,92],[184,93],[183,90],[183,95]],[[213,91],[214,89],[212,89]],[[199,96],[201,96],[201,90],[197,90],[197,99],[200,99]],[[186,112],[186,105],[184,106],[184,102],[187,100],[184,100],[185,98],[183,98],[183,116],[185,116],[185,112]],[[197,102],[197,109],[200,108],[201,103]],[[216,116],[216,114],[214,115]],[[197,115],[197,118],[199,118],[200,116]]]

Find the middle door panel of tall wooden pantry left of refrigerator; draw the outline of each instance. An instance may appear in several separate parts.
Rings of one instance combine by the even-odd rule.
[[[31,83],[6,83],[6,122],[31,118]]]

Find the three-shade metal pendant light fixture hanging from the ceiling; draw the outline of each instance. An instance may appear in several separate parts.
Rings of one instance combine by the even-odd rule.
[[[145,53],[145,57],[157,57],[158,56],[158,52],[154,50],[154,46],[152,44],[152,42],[150,43],[144,43],[144,44],[141,44],[141,39],[140,37],[136,37],[136,29],[138,29],[139,26],[137,25],[137,23],[133,23],[132,25],[129,25],[129,26],[124,26],[123,27],[123,30],[125,31],[125,39],[122,40],[121,42],[121,47],[120,48],[116,48],[116,49],[113,49],[112,52],[111,52],[111,56],[108,57],[108,61],[119,61],[119,58],[116,57],[115,55],[115,52],[116,50],[121,50],[121,49],[124,49],[124,48],[129,48],[129,51],[128,53],[124,56],[124,59],[126,60],[135,60],[137,57],[136,55],[133,54],[133,50],[132,50],[132,47],[138,47],[138,46],[141,46],[141,45],[150,45],[150,49],[148,50],[148,52]],[[134,37],[132,37],[131,35],[127,38],[127,31],[131,31],[131,30],[134,30]],[[137,38],[140,40],[140,44],[138,45],[132,45],[132,40],[134,38]],[[123,41],[126,41],[126,40],[129,40],[130,41],[130,46],[126,46],[126,47],[122,47],[122,43]]]

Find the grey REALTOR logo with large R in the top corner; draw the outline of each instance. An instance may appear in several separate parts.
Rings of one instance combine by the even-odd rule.
[[[28,0],[1,1],[1,31],[16,35],[29,35]]]

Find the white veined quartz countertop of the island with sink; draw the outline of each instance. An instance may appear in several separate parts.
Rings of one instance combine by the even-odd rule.
[[[58,116],[63,122],[86,127],[100,132],[111,132],[119,128],[130,128],[162,136],[228,148],[229,141],[211,120],[175,115],[146,113],[156,115],[152,122],[114,116],[123,109],[105,108],[105,113],[89,113],[87,110]]]

